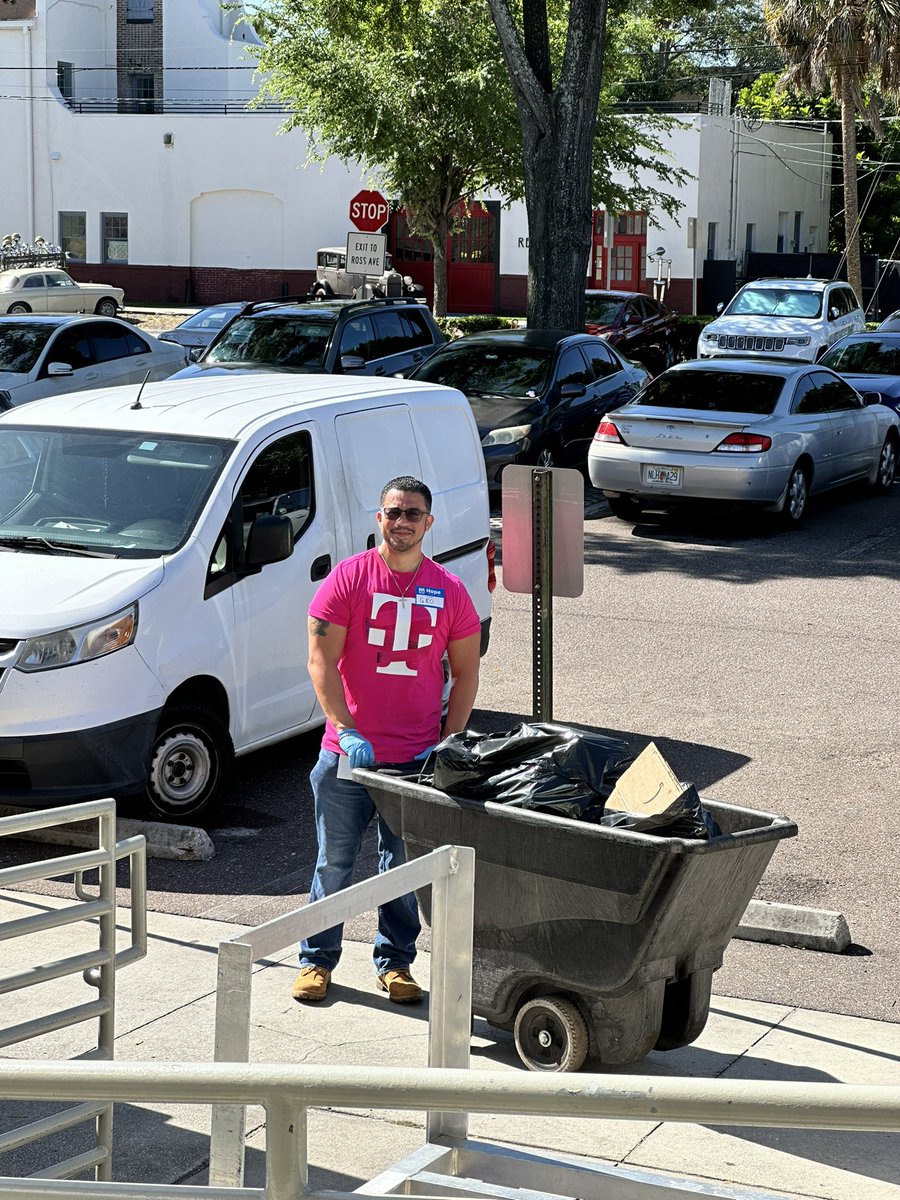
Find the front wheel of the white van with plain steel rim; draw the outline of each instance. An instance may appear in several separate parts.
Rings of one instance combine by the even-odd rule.
[[[212,809],[221,799],[234,760],[228,730],[203,704],[167,708],[156,731],[146,780],[146,806],[181,821]]]

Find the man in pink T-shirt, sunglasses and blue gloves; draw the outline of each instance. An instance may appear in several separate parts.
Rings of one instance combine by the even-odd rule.
[[[403,842],[360,784],[338,778],[341,756],[354,767],[427,757],[466,728],[478,691],[481,623],[457,576],[422,552],[431,529],[431,491],[403,475],[385,484],[377,514],[382,545],[338,563],[310,605],[310,677],[325,713],[322,751],[312,770],[318,860],[310,901],[348,887],[362,835],[374,818],[378,870],[404,862]],[[442,731],[443,656],[452,689]],[[377,985],[396,1003],[421,988],[409,968],[419,936],[415,896],[378,910]],[[341,956],[342,926],[300,944],[294,1000],[324,1000]]]

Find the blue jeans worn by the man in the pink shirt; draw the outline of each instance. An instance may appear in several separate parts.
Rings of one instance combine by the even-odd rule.
[[[352,779],[337,778],[338,756],[320,750],[310,775],[316,800],[316,835],[319,857],[310,888],[310,902],[330,896],[353,882],[353,868],[362,835],[374,817],[378,823],[378,874],[406,862],[403,841],[395,838],[372,803],[372,797]],[[421,925],[415,896],[400,896],[378,910],[373,958],[378,974],[406,971],[415,958]],[[332,971],[341,958],[343,925],[325,929],[300,943],[300,965]]]

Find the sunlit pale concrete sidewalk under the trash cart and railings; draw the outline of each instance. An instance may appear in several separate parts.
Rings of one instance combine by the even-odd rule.
[[[0,918],[59,908],[67,901],[0,892]],[[122,946],[127,913],[120,913]],[[157,1062],[212,1060],[216,952],[244,926],[148,913],[146,959],[118,976],[116,1058]],[[96,946],[88,926],[74,925],[17,942],[16,968]],[[19,947],[28,942],[28,962]],[[6,971],[12,970],[8,946]],[[25,952],[23,952],[25,953]],[[804,953],[804,952],[797,952]],[[260,962],[253,976],[251,1058],[254,1062],[425,1066],[427,1004],[390,1004],[374,990],[371,949],[346,943],[328,1000],[301,1006],[290,998],[296,952]],[[416,962],[427,984],[427,955]],[[4,1000],[4,1024],[26,1020],[96,996],[74,979],[13,992]],[[94,1026],[70,1028],[4,1051],[16,1058],[68,1058],[95,1044]],[[511,1034],[475,1020],[475,1070],[522,1070]],[[835,1016],[778,1004],[714,996],[709,1022],[691,1046],[650,1054],[628,1075],[690,1075],[703,1079],[900,1084],[900,1025]],[[47,1106],[0,1100],[0,1133],[48,1111]],[[262,1186],[265,1145],[260,1110],[247,1115],[247,1175]],[[204,1182],[209,1111],[193,1105],[118,1105],[115,1177]],[[738,1129],[641,1121],[565,1121],[475,1115],[469,1136],[517,1150],[578,1156],[702,1184],[725,1182],[743,1195],[754,1188],[779,1196],[821,1200],[900,1200],[900,1136],[792,1129]],[[373,1110],[314,1110],[310,1114],[310,1182],[317,1188],[355,1188],[424,1142],[424,1116]],[[0,1171],[26,1175],[47,1162],[86,1148],[79,1133],[58,1135],[47,1148],[0,1157]],[[524,1181],[523,1181],[524,1182]]]

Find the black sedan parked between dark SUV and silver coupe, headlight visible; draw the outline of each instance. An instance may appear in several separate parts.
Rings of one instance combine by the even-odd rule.
[[[412,378],[466,394],[499,487],[509,463],[583,468],[598,418],[650,373],[589,334],[506,329],[448,342]]]

